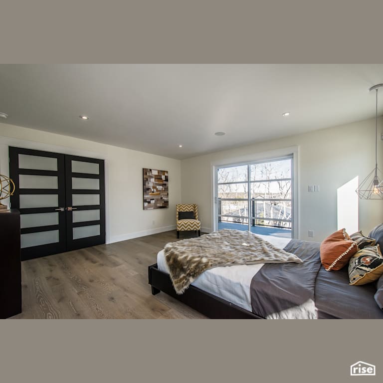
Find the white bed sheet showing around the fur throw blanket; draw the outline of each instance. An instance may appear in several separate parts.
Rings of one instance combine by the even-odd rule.
[[[259,236],[281,249],[290,242],[290,238],[274,237],[271,235]],[[161,250],[157,254],[157,265],[159,270],[169,274],[164,250]],[[231,302],[242,309],[251,311],[251,279],[263,265],[264,263],[257,265],[214,267],[204,271],[192,285],[225,301]]]

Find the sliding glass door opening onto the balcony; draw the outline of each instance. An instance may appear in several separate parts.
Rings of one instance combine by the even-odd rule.
[[[293,158],[216,169],[216,227],[292,237]]]

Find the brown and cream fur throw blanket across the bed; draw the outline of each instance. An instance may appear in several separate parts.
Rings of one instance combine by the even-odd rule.
[[[177,294],[184,293],[200,274],[213,267],[302,262],[258,235],[231,229],[168,243],[165,260]]]

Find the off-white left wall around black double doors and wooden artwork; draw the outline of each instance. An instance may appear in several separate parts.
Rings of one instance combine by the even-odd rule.
[[[9,174],[8,146],[105,160],[107,243],[176,227],[176,203],[181,202],[179,160],[0,123],[0,174],[3,175]],[[169,208],[144,211],[143,168],[169,171]],[[8,203],[8,198],[2,203]]]

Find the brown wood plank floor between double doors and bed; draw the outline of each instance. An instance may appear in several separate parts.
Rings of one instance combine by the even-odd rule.
[[[168,231],[23,261],[22,313],[12,319],[205,318],[165,293],[151,293],[148,266],[176,240],[176,231]]]

